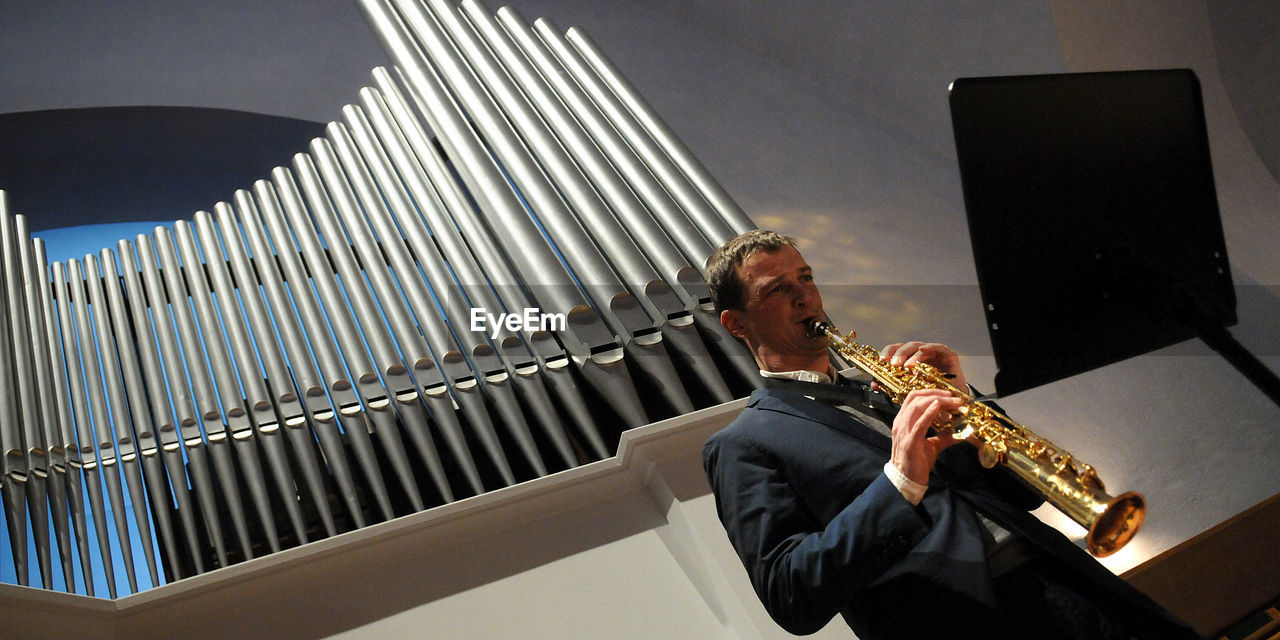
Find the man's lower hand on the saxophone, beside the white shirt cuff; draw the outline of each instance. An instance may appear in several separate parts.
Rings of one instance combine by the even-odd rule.
[[[914,483],[929,484],[933,462],[947,447],[963,440],[950,431],[929,435],[929,426],[943,413],[960,408],[960,398],[942,389],[916,389],[906,394],[893,419],[893,448],[890,462]]]

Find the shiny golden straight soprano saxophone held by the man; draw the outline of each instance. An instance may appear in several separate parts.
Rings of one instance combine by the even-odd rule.
[[[809,330],[826,335],[841,356],[870,374],[895,404],[901,404],[915,389],[945,389],[960,398],[960,408],[936,425],[951,430],[978,447],[983,467],[1004,465],[1039,492],[1051,504],[1089,532],[1089,553],[1106,557],[1124,547],[1142,527],[1147,513],[1142,494],[1129,492],[1116,498],[1106,493],[1097,471],[1036,435],[1002,412],[978,402],[968,390],[957,389],[947,375],[929,365],[911,369],[882,361],[879,353],[858,344],[852,335],[840,335],[829,323],[814,321]]]

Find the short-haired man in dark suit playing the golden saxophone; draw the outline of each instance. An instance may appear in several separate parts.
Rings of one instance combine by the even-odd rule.
[[[713,435],[703,462],[717,509],[778,625],[812,634],[840,613],[861,640],[1199,637],[1028,509],[1042,499],[929,425],[959,407],[911,392],[900,410],[838,379],[813,269],[794,241],[739,236],[708,260],[721,323],[755,356],[764,389]],[[965,388],[946,346],[882,356]],[[836,383],[836,384],[832,384]]]

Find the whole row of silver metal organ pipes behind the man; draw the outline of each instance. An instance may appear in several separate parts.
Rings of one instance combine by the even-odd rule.
[[[56,549],[68,591],[101,567],[136,593],[143,563],[161,584],[544,476],[756,384],[700,275],[753,225],[586,35],[358,1],[394,68],[211,211],[50,264],[0,192],[19,584],[55,589]],[[474,330],[532,308],[566,324]]]

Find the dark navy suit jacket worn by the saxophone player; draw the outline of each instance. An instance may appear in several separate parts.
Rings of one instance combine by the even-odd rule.
[[[884,416],[892,421],[892,416]],[[1027,511],[1038,495],[973,448],[942,452],[919,506],[883,474],[890,439],[800,393],[759,389],[703,448],[721,521],[778,625],[836,613],[861,640],[1002,637],[977,508],[1065,571],[1160,618],[1158,605]]]

